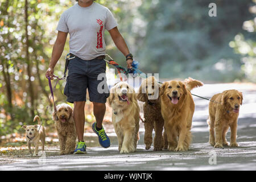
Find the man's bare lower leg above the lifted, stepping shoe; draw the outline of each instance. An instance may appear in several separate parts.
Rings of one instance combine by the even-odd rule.
[[[93,102],[93,114],[96,118],[96,129],[102,129],[102,121],[106,112],[106,104],[100,102]]]

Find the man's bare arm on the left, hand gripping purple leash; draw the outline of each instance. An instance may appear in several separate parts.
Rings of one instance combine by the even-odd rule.
[[[53,69],[57,64],[57,61],[60,59],[61,54],[63,53],[65,42],[67,40],[68,33],[58,31],[56,41],[52,49],[52,58],[49,63],[49,68],[46,72],[46,77],[51,77],[53,79]]]

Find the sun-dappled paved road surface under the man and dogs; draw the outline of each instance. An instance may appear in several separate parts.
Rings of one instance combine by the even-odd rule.
[[[85,134],[88,146],[88,153],[85,155],[59,156],[56,140],[47,143],[46,155],[40,158],[31,158],[26,146],[19,151],[6,148],[0,156],[0,170],[256,170],[256,86],[211,84],[195,89],[192,93],[210,97],[226,89],[238,89],[243,92],[237,132],[240,147],[213,148],[208,144],[208,101],[193,97],[196,110],[193,117],[193,141],[189,151],[155,152],[152,147],[150,150],[144,150],[144,127],[141,123],[141,139],[137,152],[120,155],[113,126],[106,124],[105,128],[112,141],[112,146],[107,149],[99,147],[96,134],[93,133]],[[229,141],[230,133],[227,139]],[[14,154],[7,155],[11,151]],[[214,159],[216,164],[212,164]]]

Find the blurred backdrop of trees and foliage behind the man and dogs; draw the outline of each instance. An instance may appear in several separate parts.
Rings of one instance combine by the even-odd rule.
[[[22,125],[33,124],[35,114],[53,125],[45,73],[60,15],[75,2],[0,0],[0,135],[19,133]],[[208,16],[210,2],[97,0],[113,12],[143,72],[168,78],[255,82],[255,8],[251,8],[255,0],[215,1],[217,17]],[[125,67],[125,57],[108,31],[105,34],[106,53]],[[63,75],[68,42],[55,67],[57,76]],[[56,104],[65,101],[64,86],[65,81],[56,86]],[[86,121],[93,119],[90,111]]]

